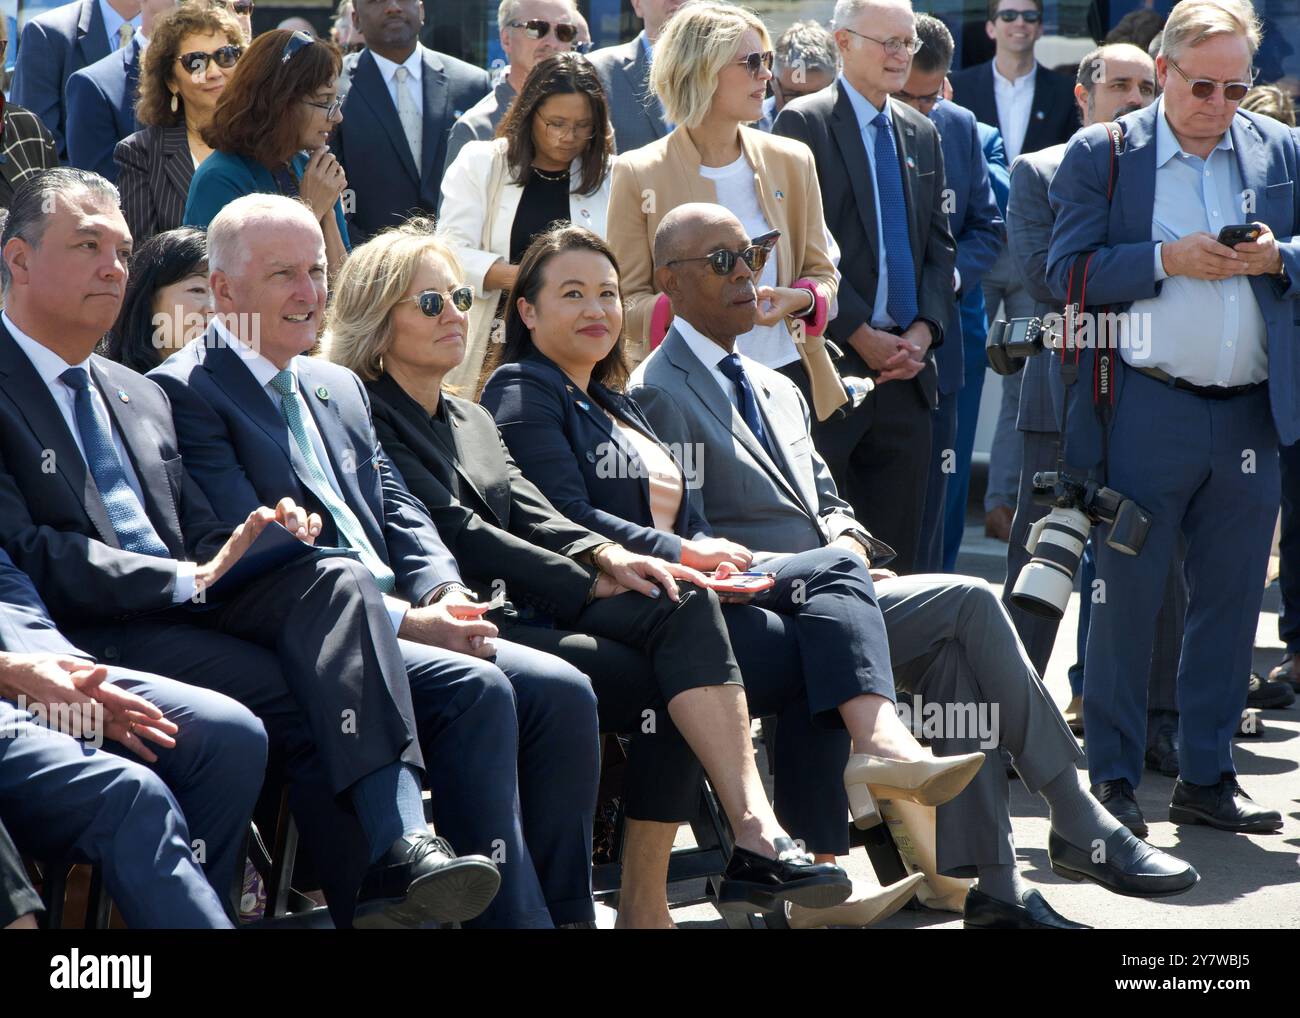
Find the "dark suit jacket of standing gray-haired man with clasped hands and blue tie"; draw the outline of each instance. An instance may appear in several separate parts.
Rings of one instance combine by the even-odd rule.
[[[916,268],[918,313],[937,328],[937,345],[942,341],[944,324],[950,319],[956,300],[953,267],[957,264],[957,243],[948,226],[944,200],[942,146],[930,117],[904,103],[889,100],[889,104],[907,202],[911,260]],[[863,172],[871,164],[862,143],[858,116],[848,92],[841,91],[836,81],[829,88],[786,104],[776,117],[772,133],[803,142],[816,160],[826,221],[840,244],[841,278],[836,295],[840,309],[828,333],[848,347],[848,338],[854,330],[871,324],[880,280],[875,181]],[[931,356],[914,378],[930,406],[935,403],[937,378]]]

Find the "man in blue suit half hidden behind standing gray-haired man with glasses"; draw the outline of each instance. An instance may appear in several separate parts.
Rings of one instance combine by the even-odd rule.
[[[1002,246],[1002,216],[993,200],[975,114],[942,101],[944,78],[953,62],[953,36],[939,18],[918,14],[916,38],[920,49],[911,60],[907,83],[901,92],[894,92],[894,99],[928,116],[939,127],[944,179],[948,182],[948,228],[957,241],[956,300],[948,322],[952,338],[935,351],[939,404],[932,413],[930,482],[915,562],[916,572],[941,572],[948,478],[957,467],[957,403],[966,373],[959,302],[971,290],[979,289],[984,273],[997,261]]]

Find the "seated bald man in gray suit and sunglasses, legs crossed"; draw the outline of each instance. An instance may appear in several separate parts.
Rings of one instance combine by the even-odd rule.
[[[718,273],[706,256],[749,243],[740,221],[719,205],[679,205],[664,217],[655,234],[655,282],[677,317],[663,345],[637,368],[630,394],[662,441],[693,443],[703,467],[703,514],[719,536],[766,553],[798,553],[829,543],[853,512],[811,446],[798,387],[744,356],[740,372],[734,360],[725,376],[719,367],[732,358],[736,337],[753,325],[757,293],[744,259]],[[720,378],[737,381],[724,389]],[[858,554],[870,568],[866,547]],[[994,744],[1006,749],[1026,787],[1046,801],[1054,871],[1139,896],[1174,894],[1196,883],[1191,866],[1139,841],[1083,787],[1078,744],[987,584],[900,579],[880,569],[872,580],[879,607],[867,602],[862,610],[884,616],[898,690],[911,693],[914,703],[923,697],[930,705],[961,705],[967,718],[998,718],[982,738],[968,722],[958,722],[962,711],[953,714],[935,732],[936,755]],[[1006,777],[996,755],[939,807],[937,837],[941,872],[979,875],[966,900],[967,926],[1072,926],[1019,880]],[[1095,850],[1098,845],[1104,853]]]

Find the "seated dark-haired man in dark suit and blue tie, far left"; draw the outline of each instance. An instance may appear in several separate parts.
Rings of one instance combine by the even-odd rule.
[[[273,523],[309,542],[320,519],[282,499],[222,524],[186,473],[162,391],[92,355],[130,243],[103,177],[52,169],[14,195],[0,234],[0,543],[94,658],[183,675],[252,710],[304,828],[322,797],[355,809],[370,854],[359,922],[477,914],[497,874],[428,833],[410,685],[370,573],[302,549],[216,586]],[[508,703],[462,711],[503,732],[514,720]],[[325,822],[315,831],[333,836]],[[467,870],[486,874],[477,897]]]

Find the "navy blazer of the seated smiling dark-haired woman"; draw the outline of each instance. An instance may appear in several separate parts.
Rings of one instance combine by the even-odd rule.
[[[650,480],[640,469],[636,450],[625,445],[603,411],[650,438],[655,438],[654,428],[628,397],[594,382],[589,393],[533,351],[493,372],[482,404],[497,419],[524,476],[564,516],[633,551],[681,562],[682,537],[711,534],[699,511],[698,489],[685,486],[673,533],[656,530]],[[673,459],[680,468],[680,458]]]

